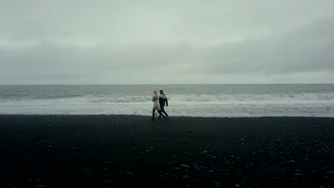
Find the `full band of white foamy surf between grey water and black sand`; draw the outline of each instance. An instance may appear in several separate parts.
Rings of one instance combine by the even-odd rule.
[[[203,117],[241,116],[334,116],[333,94],[305,95],[171,95],[170,115]],[[93,96],[52,100],[7,101],[0,105],[2,114],[134,114],[151,115],[151,98]]]

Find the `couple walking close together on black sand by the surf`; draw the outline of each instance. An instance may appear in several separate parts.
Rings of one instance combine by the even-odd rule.
[[[163,93],[163,90],[160,90],[160,95],[158,95],[158,92],[156,90],[154,91],[152,102],[153,102],[152,120],[154,120],[154,115],[156,113],[156,110],[159,113],[159,119],[161,118],[161,115],[163,119],[168,119],[169,116],[165,111],[165,104],[166,106],[168,106],[168,100],[166,95]]]

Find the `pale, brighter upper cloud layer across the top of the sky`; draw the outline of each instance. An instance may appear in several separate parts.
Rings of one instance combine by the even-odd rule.
[[[330,0],[3,0],[0,33],[19,41],[215,41],[286,31],[333,16],[333,6]]]

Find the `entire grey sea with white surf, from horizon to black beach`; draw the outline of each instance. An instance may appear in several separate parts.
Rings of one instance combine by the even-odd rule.
[[[151,115],[161,89],[172,116],[334,117],[334,84],[0,85],[0,114]]]

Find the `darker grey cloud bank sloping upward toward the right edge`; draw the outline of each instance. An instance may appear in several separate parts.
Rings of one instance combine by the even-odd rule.
[[[288,73],[334,69],[334,20],[325,19],[282,36],[213,48],[213,73]]]

